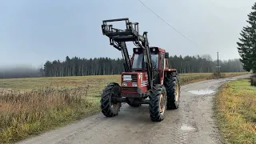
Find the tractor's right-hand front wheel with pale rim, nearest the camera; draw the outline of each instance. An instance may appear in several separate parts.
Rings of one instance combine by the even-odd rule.
[[[161,122],[166,116],[166,88],[156,85],[150,92],[150,118],[153,122]]]

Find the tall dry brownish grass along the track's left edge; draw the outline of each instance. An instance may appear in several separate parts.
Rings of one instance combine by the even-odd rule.
[[[0,143],[16,142],[97,112],[98,104],[86,99],[85,89],[2,90]]]

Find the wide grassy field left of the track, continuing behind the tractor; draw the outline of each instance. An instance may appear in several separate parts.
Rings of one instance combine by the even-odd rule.
[[[248,73],[224,73],[221,78]],[[180,74],[181,84],[218,78]],[[120,75],[0,79],[0,143],[16,142],[100,111],[102,89]]]

